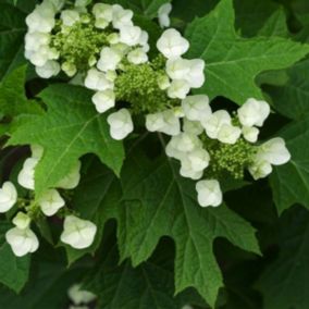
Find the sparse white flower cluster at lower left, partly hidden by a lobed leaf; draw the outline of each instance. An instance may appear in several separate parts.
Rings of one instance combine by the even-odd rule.
[[[26,159],[23,169],[18,173],[17,182],[29,190],[29,198],[18,198],[17,190],[13,183],[5,182],[0,189],[0,213],[16,211],[12,223],[15,225],[7,232],[7,242],[11,245],[13,252],[17,257],[34,252],[39,247],[36,234],[30,230],[32,221],[40,219],[42,215],[52,217],[60,213],[64,217],[64,230],[61,234],[61,242],[76,249],[89,247],[97,233],[97,226],[86,220],[82,220],[71,213],[65,207],[65,200],[60,195],[60,189],[67,190],[75,188],[81,178],[81,162],[78,161],[72,171],[59,182],[57,188],[51,188],[44,193],[38,199],[34,199],[35,168],[44,154],[39,146],[32,147],[32,157]],[[14,209],[14,206],[16,208]]]

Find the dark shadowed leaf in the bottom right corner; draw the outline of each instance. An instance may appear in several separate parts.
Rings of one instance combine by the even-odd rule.
[[[307,309],[309,263],[309,212],[293,208],[280,224],[280,255],[262,273],[258,287],[264,309]]]

